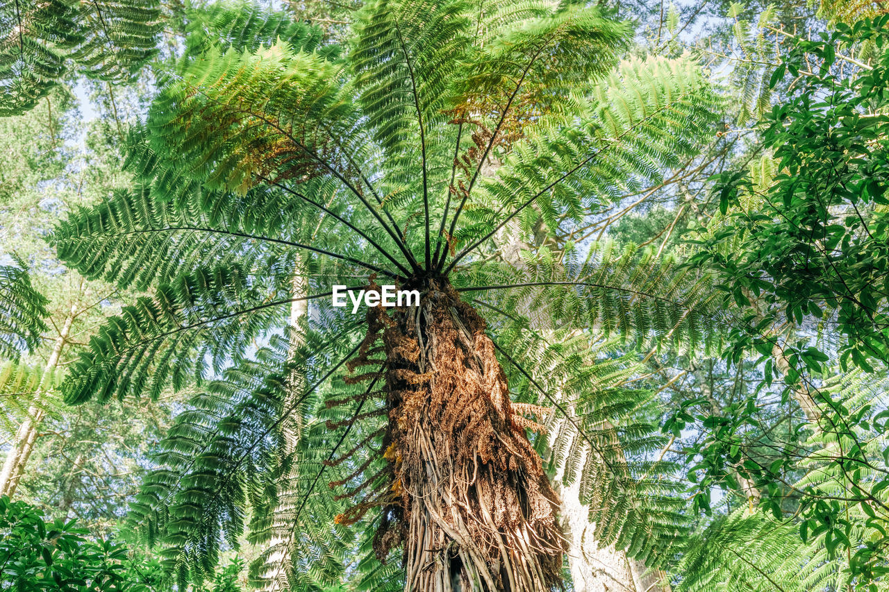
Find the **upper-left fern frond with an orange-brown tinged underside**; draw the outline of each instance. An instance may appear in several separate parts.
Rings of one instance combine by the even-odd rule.
[[[352,118],[339,70],[286,44],[255,54],[212,47],[155,101],[148,116],[152,148],[192,164],[188,172],[205,187],[241,193],[260,176],[300,180],[345,172],[336,156],[320,156],[335,138],[318,129],[343,132]]]

